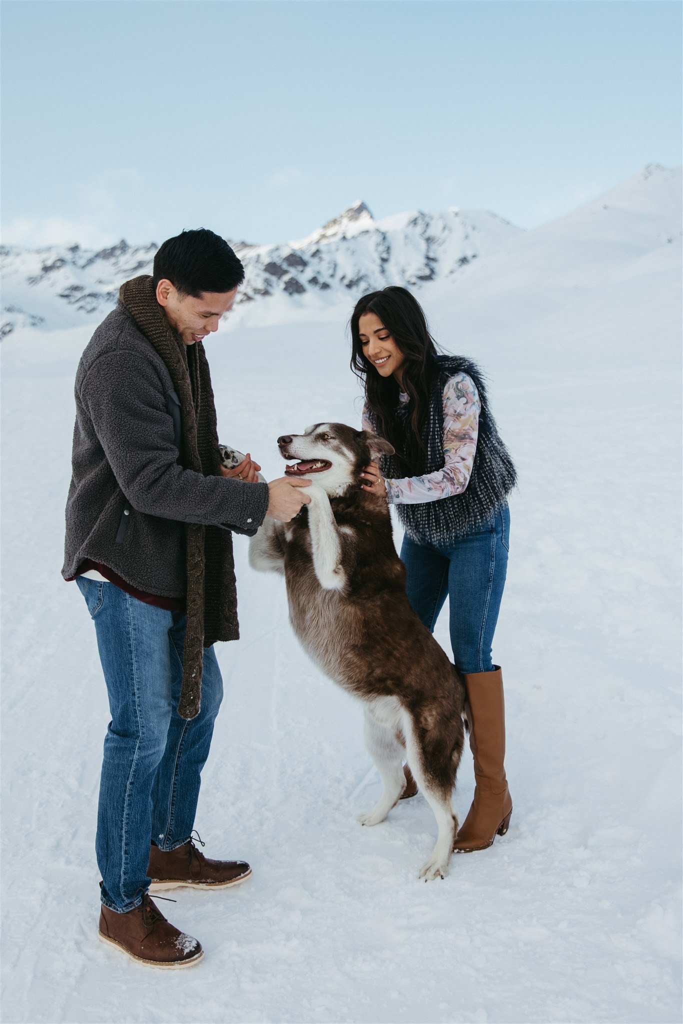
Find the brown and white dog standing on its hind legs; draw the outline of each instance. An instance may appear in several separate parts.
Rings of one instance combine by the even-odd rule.
[[[310,477],[310,504],[289,523],[266,519],[250,541],[255,569],[283,572],[290,621],[310,657],[362,700],[366,744],[384,792],[358,820],[384,821],[405,787],[402,761],[432,808],[438,838],[420,878],[443,878],[458,830],[451,803],[463,749],[465,690],[455,666],[413,611],[387,503],[359,487],[388,441],[341,423],[278,440]]]

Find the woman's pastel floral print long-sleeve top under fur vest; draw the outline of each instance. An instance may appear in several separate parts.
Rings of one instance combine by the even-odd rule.
[[[400,392],[401,402],[409,395]],[[467,374],[450,377],[443,388],[443,469],[424,476],[404,476],[385,480],[387,501],[392,505],[435,502],[439,498],[462,495],[470,481],[479,430],[481,403],[476,385]],[[375,433],[364,406],[364,430]]]

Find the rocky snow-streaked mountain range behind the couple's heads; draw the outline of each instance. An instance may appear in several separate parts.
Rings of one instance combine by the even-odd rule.
[[[417,211],[375,220],[365,203],[354,203],[298,242],[230,242],[246,268],[238,305],[280,296],[286,305],[315,308],[348,304],[388,284],[421,288],[452,276],[518,233],[520,228],[486,211]],[[101,319],[124,281],[152,272],[157,248],[123,239],[98,252],[78,245],[3,247],[0,337],[18,327],[51,330]]]

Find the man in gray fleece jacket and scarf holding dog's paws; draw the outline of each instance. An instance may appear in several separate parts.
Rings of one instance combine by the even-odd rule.
[[[62,575],[95,624],[112,721],[95,849],[99,934],[144,964],[203,955],[148,895],[224,887],[244,861],[209,860],[191,833],[222,696],[216,640],[239,636],[231,531],[289,521],[310,480],[258,482],[248,456],[222,469],[203,339],[234,302],[244,268],[209,230],[158,251],[126,282],[76,375]]]

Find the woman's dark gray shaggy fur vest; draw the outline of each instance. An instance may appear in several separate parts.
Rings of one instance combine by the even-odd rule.
[[[474,465],[462,495],[441,498],[416,505],[396,504],[396,512],[411,540],[421,544],[449,544],[488,523],[493,523],[498,509],[517,482],[517,474],[510,454],[496,427],[488,410],[486,387],[481,371],[462,355],[436,356],[437,373],[432,382],[429,415],[425,422],[422,440],[427,450],[424,465],[418,475],[442,469],[443,457],[443,388],[450,377],[465,373],[472,378],[479,393],[479,432]],[[402,419],[398,411],[398,418]],[[369,409],[370,421],[375,428],[375,414]],[[396,456],[382,456],[382,475],[391,479],[405,476],[405,470]]]

